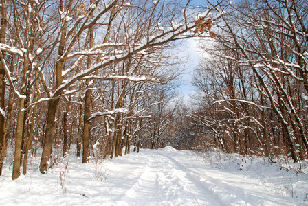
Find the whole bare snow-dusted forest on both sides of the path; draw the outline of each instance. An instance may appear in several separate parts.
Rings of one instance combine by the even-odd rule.
[[[130,146],[281,157],[308,151],[308,2],[1,0],[0,174]],[[200,39],[190,104],[177,45]],[[99,152],[94,152],[99,148]],[[12,150],[12,151],[11,151]],[[22,171],[21,171],[22,170]]]

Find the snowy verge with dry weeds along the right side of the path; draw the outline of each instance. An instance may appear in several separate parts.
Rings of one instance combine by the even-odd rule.
[[[199,152],[203,162],[219,170],[228,170],[256,179],[277,194],[292,196],[300,205],[308,205],[308,161],[292,163],[282,156],[269,159],[256,155],[228,154],[217,148]]]

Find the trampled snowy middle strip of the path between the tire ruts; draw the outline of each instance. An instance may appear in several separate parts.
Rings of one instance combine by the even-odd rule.
[[[149,152],[150,153],[150,152]],[[127,205],[219,205],[201,185],[156,152],[138,159],[144,170],[135,183],[126,190],[122,203]]]

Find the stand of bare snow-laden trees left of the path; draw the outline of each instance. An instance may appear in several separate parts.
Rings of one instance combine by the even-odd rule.
[[[181,39],[213,36],[212,25],[221,16],[213,10],[216,5],[209,10],[201,8],[202,14],[200,10],[195,12],[189,7],[191,1],[10,3],[7,10],[6,1],[1,1],[0,166],[8,137],[4,134],[16,128],[16,135],[10,134],[16,136],[13,179],[20,175],[23,154],[26,173],[34,133],[39,134],[43,144],[42,173],[52,164],[53,146],[59,150],[63,142],[65,157],[76,122],[78,153],[83,136],[83,162],[87,162],[91,145],[98,140],[108,151],[105,155],[111,157],[122,155],[124,146],[127,154],[133,139],[138,139],[139,145],[140,131],[147,123],[142,119],[154,106],[144,104],[147,92],[153,95],[153,88],[175,77],[176,72],[167,69],[172,66],[166,55],[168,49]],[[12,24],[6,25],[8,19]],[[5,84],[10,85],[6,113]],[[18,100],[16,112],[12,110],[14,98]],[[163,101],[159,113],[166,111],[163,108],[168,100]],[[69,117],[77,107],[79,118]],[[37,113],[38,108],[46,113]],[[17,117],[12,118],[12,125],[11,113]],[[159,116],[157,145],[172,113]],[[103,119],[102,124],[91,122],[95,118]],[[100,131],[102,137],[98,136]]]

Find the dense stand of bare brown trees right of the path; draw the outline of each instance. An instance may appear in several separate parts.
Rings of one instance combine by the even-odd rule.
[[[306,6],[240,1],[217,23],[219,47],[210,53],[219,65],[206,68],[207,76],[195,82],[224,115],[221,125],[230,127],[226,138],[240,147],[237,152],[257,150],[268,157],[278,152],[294,161],[307,156]]]

